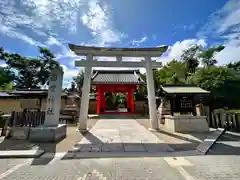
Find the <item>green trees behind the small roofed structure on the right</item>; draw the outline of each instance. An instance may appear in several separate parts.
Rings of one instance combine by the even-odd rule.
[[[198,45],[186,49],[180,60],[173,59],[154,71],[156,91],[164,84],[198,84],[211,92],[213,106],[239,108],[240,61],[217,66],[215,56],[223,49],[224,46],[204,49]]]

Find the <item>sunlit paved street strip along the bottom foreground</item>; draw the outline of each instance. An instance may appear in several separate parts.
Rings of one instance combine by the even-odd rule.
[[[6,160],[0,160],[1,167],[3,161]],[[32,161],[22,159],[17,165],[11,164],[10,169],[0,172],[0,180],[238,180],[240,177],[240,156],[55,159],[47,165],[33,165]]]

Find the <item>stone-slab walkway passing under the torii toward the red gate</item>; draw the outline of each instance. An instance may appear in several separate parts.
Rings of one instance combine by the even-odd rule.
[[[166,143],[134,119],[101,119],[75,145],[81,152],[171,152]]]

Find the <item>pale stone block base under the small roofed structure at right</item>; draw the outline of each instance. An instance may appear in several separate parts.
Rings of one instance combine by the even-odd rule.
[[[164,127],[172,132],[208,132],[209,126],[206,116],[165,115]]]

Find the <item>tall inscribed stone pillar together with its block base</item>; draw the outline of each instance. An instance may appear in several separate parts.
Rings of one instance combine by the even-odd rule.
[[[62,70],[54,69],[49,79],[45,121],[43,126],[30,129],[30,141],[56,142],[66,137],[66,124],[59,124],[62,80]]]

